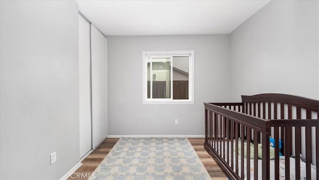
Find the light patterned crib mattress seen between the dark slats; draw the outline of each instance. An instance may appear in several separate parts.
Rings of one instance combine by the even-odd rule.
[[[239,144],[240,146],[240,144]],[[229,149],[228,152],[230,152],[231,149]],[[227,150],[225,151],[225,154],[227,153]],[[220,150],[219,154],[223,154],[223,149]],[[231,154],[229,153],[229,157]],[[233,153],[233,160],[234,160],[234,172],[236,169],[235,165],[235,159],[236,159],[236,153]],[[247,180],[247,160],[244,158],[244,179]],[[229,163],[230,165],[230,163]],[[290,179],[291,180],[296,180],[296,163],[295,163],[295,158],[290,157]],[[270,160],[270,179],[274,180],[275,179],[275,160]],[[314,165],[311,165],[311,180],[317,180],[316,177],[316,170],[317,167]],[[254,179],[254,160],[250,160],[250,179]],[[238,172],[239,172],[239,177],[240,177],[240,172],[241,172],[241,156],[238,155]],[[285,177],[285,156],[280,156],[279,157],[279,178],[280,180],[285,180],[288,179]],[[262,179],[262,160],[258,159],[258,179]],[[300,161],[300,179],[301,180],[310,180],[310,178],[306,178],[306,163]]]

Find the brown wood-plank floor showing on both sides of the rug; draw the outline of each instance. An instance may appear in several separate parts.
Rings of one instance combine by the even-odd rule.
[[[102,160],[118,142],[118,138],[108,138],[97,147],[88,157],[82,161],[82,166],[77,169],[68,180],[87,180],[88,177],[99,166]],[[197,153],[199,159],[206,168],[212,180],[227,180],[224,172],[204,149],[204,138],[188,138],[190,144]]]

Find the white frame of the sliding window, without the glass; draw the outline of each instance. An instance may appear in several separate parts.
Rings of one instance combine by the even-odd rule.
[[[194,50],[186,51],[143,51],[143,104],[194,104]],[[173,99],[173,87],[171,85],[171,98],[148,98],[148,77],[147,63],[148,57],[171,57],[171,56],[188,56],[188,99]],[[172,60],[172,59],[171,59]],[[172,62],[172,61],[171,61]],[[173,62],[172,62],[173,63]],[[152,63],[151,63],[152,65]],[[171,65],[172,69],[172,65]],[[171,83],[173,78],[171,70]],[[153,78],[153,75],[150,77]],[[152,91],[152,85],[151,85]]]

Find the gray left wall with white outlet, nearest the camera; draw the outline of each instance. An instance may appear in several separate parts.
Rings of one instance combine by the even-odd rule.
[[[0,1],[0,179],[60,179],[79,162],[77,8]]]

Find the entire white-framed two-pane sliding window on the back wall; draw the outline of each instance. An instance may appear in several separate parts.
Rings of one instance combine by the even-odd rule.
[[[193,104],[194,51],[143,51],[143,104]]]

